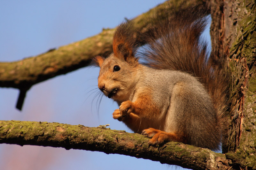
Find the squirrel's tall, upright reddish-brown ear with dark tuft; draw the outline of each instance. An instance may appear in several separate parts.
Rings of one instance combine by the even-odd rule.
[[[114,55],[123,58],[126,62],[136,61],[137,59],[134,57],[136,49],[133,22],[127,21],[120,24],[113,37]]]

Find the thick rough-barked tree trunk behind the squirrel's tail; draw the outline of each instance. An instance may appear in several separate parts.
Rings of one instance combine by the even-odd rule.
[[[243,168],[255,169],[255,1],[212,1],[211,13],[212,49],[217,59],[227,59],[230,75],[230,119],[223,152],[236,152],[235,157],[231,156],[233,161],[239,160]]]

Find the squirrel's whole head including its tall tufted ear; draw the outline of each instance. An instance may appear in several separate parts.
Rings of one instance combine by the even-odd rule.
[[[113,37],[113,53],[108,58],[97,56],[100,67],[98,87],[108,98],[125,101],[138,80],[140,64],[134,56],[138,47],[132,21],[120,24]]]

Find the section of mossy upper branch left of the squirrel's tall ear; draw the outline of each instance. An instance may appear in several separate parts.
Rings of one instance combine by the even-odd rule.
[[[17,62],[0,63],[0,86],[22,88],[84,67],[96,55],[112,50],[115,29]],[[103,40],[102,40],[103,39]]]

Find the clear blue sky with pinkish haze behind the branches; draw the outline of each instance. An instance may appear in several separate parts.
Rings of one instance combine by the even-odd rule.
[[[164,0],[50,1],[0,0],[0,61],[16,61],[50,48],[113,28],[124,18],[133,18]],[[209,28],[207,30],[209,32]],[[209,39],[209,33],[208,33]],[[112,118],[118,107],[103,97],[97,113],[98,68],[83,68],[34,85],[27,93],[22,111],[15,108],[18,90],[0,88],[0,120],[46,121],[131,132]],[[90,95],[92,94],[92,95]],[[63,148],[0,144],[0,167],[4,170],[40,169],[170,169],[145,159],[117,154],[65,150]],[[174,167],[175,168],[175,167]]]

